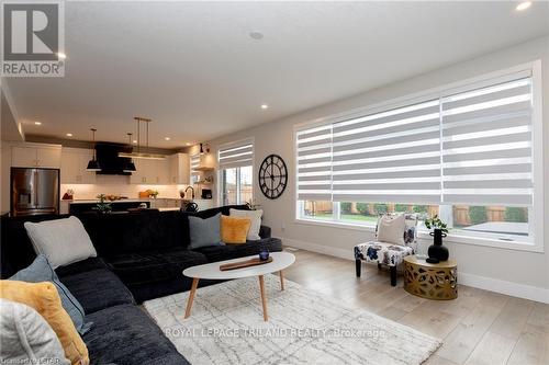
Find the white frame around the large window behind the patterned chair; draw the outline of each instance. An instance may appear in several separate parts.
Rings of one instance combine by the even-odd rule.
[[[301,217],[300,212],[300,201],[298,201],[298,138],[296,133],[304,128],[320,127],[327,124],[333,124],[341,122],[349,118],[360,117],[366,114],[374,114],[379,112],[386,111],[389,109],[396,109],[406,106],[413,103],[419,103],[433,98],[440,98],[447,94],[452,94],[460,92],[470,87],[482,87],[483,83],[490,83],[492,79],[502,78],[505,76],[512,76],[519,72],[529,71],[531,72],[531,92],[533,92],[533,114],[531,114],[531,126],[533,126],[533,180],[534,180],[534,204],[531,206],[533,215],[528,217],[529,233],[533,235],[533,239],[529,242],[526,241],[505,241],[495,238],[480,237],[474,233],[463,235],[460,232],[451,232],[445,239],[448,242],[493,247],[498,249],[509,249],[519,251],[530,251],[530,252],[544,252],[544,119],[542,119],[542,78],[541,78],[541,61],[535,60],[531,62],[522,64],[515,67],[506,68],[503,70],[485,73],[482,76],[469,78],[462,81],[452,82],[446,85],[440,85],[432,88],[425,91],[416,92],[401,98],[395,98],[381,103],[372,104],[365,107],[354,109],[348,112],[343,112],[334,114],[332,116],[326,116],[322,118],[316,118],[314,121],[309,121],[304,123],[295,124],[293,127],[293,170],[294,175],[294,223],[303,225],[314,225],[324,227],[338,227],[345,229],[354,229],[360,231],[376,231],[376,225],[363,225],[363,224],[352,224],[348,221],[340,220],[320,220],[320,219],[307,219]],[[333,202],[337,203],[337,202]],[[334,213],[335,210],[334,204]],[[419,230],[418,239],[432,240],[427,231]]]

